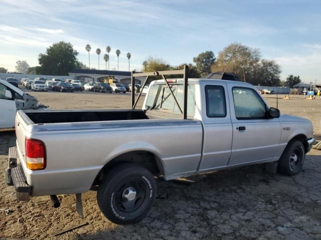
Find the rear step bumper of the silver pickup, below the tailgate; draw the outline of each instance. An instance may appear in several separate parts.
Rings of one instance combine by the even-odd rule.
[[[15,186],[17,199],[20,201],[28,201],[31,194],[31,186],[27,183],[27,178],[20,159],[17,154],[17,147],[9,148],[8,168],[6,169],[7,185]]]

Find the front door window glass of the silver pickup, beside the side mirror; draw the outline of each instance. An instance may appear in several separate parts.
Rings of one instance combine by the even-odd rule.
[[[237,119],[266,118],[266,105],[254,89],[233,87],[233,99]]]

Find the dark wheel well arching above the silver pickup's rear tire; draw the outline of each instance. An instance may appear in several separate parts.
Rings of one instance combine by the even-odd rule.
[[[153,175],[164,175],[164,167],[159,157],[149,151],[136,150],[122,153],[108,161],[97,174],[93,185],[99,185],[100,180],[110,169],[125,162],[142,165]]]

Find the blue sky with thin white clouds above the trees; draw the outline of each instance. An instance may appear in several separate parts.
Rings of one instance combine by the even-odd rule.
[[[96,48],[111,46],[110,68],[141,69],[148,56],[170,64],[216,55],[232,42],[259,48],[280,64],[281,79],[300,75],[321,83],[321,0],[0,0],[0,66],[38,64],[53,42],[71,42],[78,58],[98,68]]]

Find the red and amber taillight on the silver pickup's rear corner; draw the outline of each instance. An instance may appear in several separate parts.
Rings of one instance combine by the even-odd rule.
[[[46,168],[46,147],[41,140],[26,138],[26,163],[31,170]]]

